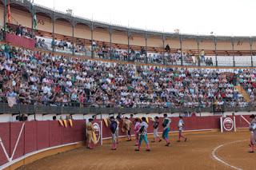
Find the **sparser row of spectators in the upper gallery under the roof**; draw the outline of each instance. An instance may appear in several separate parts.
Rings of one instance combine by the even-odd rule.
[[[47,40],[47,41],[46,41]],[[99,45],[97,42],[92,42],[91,45],[85,45],[82,43],[73,43],[68,40],[62,39],[51,40],[49,38],[37,37],[36,46],[41,49],[53,50],[63,53],[75,53],[77,55],[86,55],[91,57],[99,57],[112,60],[121,61],[133,61],[138,63],[154,63],[161,65],[198,65],[197,57],[193,53],[182,53],[182,49],[178,49],[176,52],[170,53],[170,46],[166,45],[165,51],[162,53],[147,52],[144,47],[140,50],[134,50],[131,46],[129,51],[126,49],[118,49],[114,46],[106,45],[102,42]],[[73,52],[74,50],[74,52]],[[211,57],[204,57],[204,53],[200,54],[203,60],[199,60],[202,64],[213,65]]]

